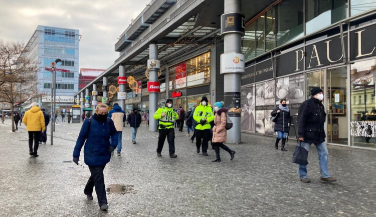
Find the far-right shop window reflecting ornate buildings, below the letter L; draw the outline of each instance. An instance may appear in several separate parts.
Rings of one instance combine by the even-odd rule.
[[[376,59],[351,64],[351,145],[376,148],[375,94]]]

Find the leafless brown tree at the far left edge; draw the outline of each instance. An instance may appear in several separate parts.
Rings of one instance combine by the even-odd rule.
[[[15,105],[41,97],[37,91],[38,64],[26,57],[27,51],[20,42],[4,43],[0,39],[0,101],[11,105],[12,131]]]

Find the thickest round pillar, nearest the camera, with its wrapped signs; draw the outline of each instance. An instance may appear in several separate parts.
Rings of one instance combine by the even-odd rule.
[[[226,22],[227,14],[226,13],[234,13],[233,15],[239,15],[241,12],[241,0],[225,0],[225,10],[224,14],[222,15],[221,22]],[[232,23],[232,26],[241,26],[242,21],[235,19]],[[244,23],[243,23],[244,24]],[[229,25],[230,26],[230,25]],[[243,25],[244,26],[244,25]],[[233,56],[230,54],[237,53],[237,56],[241,53],[241,42],[242,42],[242,34],[244,33],[241,31],[231,31],[228,28],[221,26],[221,32],[224,34],[224,54],[223,58],[221,58],[222,63],[225,58],[228,59],[226,62],[232,62]],[[226,55],[229,53],[228,55]],[[231,58],[231,59],[229,59]],[[244,71],[244,55],[243,55],[243,71]],[[221,73],[222,73],[221,68]],[[242,70],[234,69],[231,72],[224,73],[224,100],[225,106],[228,106],[230,109],[231,107],[240,107],[240,77],[241,77]],[[233,122],[233,127],[227,133],[227,143],[240,143],[241,142],[241,116],[239,114],[232,114],[230,115],[230,119]]]

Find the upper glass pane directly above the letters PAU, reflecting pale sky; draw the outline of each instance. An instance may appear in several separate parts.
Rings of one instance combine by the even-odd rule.
[[[305,33],[309,34],[347,17],[347,0],[305,0]]]

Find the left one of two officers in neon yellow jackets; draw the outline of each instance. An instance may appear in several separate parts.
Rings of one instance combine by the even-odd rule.
[[[170,157],[177,157],[175,154],[175,130],[173,123],[177,120],[178,115],[172,108],[172,99],[167,99],[165,106],[158,108],[153,117],[159,120],[157,156],[162,156],[160,152],[162,152],[164,140],[167,136]]]

